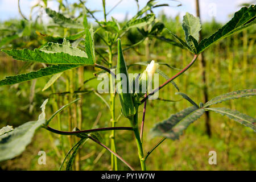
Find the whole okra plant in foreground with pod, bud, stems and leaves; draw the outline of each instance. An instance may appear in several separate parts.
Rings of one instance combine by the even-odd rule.
[[[31,142],[34,133],[39,128],[46,129],[49,132],[58,135],[76,137],[76,143],[73,144],[71,149],[65,155],[60,166],[60,169],[65,166],[67,170],[71,170],[73,168],[73,164],[75,164],[76,155],[78,154],[79,148],[82,146],[82,144],[86,143],[87,140],[92,140],[93,142],[106,148],[106,150],[111,153],[111,166],[113,170],[118,170],[118,160],[121,160],[121,162],[131,170],[134,170],[134,168],[129,163],[127,163],[125,159],[118,155],[119,152],[115,146],[115,135],[117,135],[115,134],[115,130],[129,130],[131,135],[134,135],[135,142],[137,143],[138,159],[141,163],[141,170],[146,170],[146,160],[148,156],[167,138],[172,140],[179,139],[180,135],[184,133],[184,130],[187,129],[187,127],[197,119],[199,119],[201,115],[205,113],[205,111],[214,111],[216,113],[226,115],[226,117],[229,117],[230,119],[241,123],[243,126],[250,127],[252,130],[256,131],[255,118],[240,113],[239,111],[224,107],[210,107],[223,101],[247,96],[255,96],[256,89],[237,90],[214,97],[212,100],[209,100],[205,104],[201,102],[200,104],[196,104],[196,102],[187,96],[187,94],[179,92],[179,88],[174,82],[177,77],[192,67],[200,53],[202,53],[209,46],[212,46],[212,44],[216,43],[218,40],[224,39],[235,32],[241,31],[243,28],[255,24],[256,8],[254,5],[251,5],[249,8],[242,7],[242,9],[237,11],[234,14],[234,17],[222,28],[220,28],[213,35],[209,36],[209,38],[203,39],[200,42],[200,20],[192,14],[187,13],[183,17],[182,24],[185,34],[185,41],[175,35],[174,32],[171,32],[171,30],[165,29],[165,31],[170,32],[170,40],[172,44],[180,48],[187,49],[194,55],[191,63],[189,63],[186,67],[181,69],[179,73],[172,77],[168,77],[159,69],[161,66],[163,66],[163,63],[157,63],[157,61],[151,61],[150,64],[145,62],[135,63],[146,66],[146,69],[142,73],[138,73],[136,77],[131,78],[127,68],[135,64],[127,64],[129,61],[126,63],[123,51],[137,46],[146,38],[159,38],[157,35],[163,31],[163,24],[155,19],[154,13],[147,14],[146,16],[143,15],[147,11],[152,11],[152,9],[161,5],[157,5],[155,1],[149,1],[147,5],[143,7],[143,9],[139,10],[133,18],[121,26],[114,18],[112,18],[112,20],[106,19],[108,13],[106,13],[105,1],[102,1],[104,9],[104,21],[102,22],[98,21],[94,17],[93,12],[85,6],[84,2],[80,2],[83,8],[83,13],[80,15],[80,18],[82,18],[82,23],[78,20],[67,18],[63,14],[57,13],[51,9],[46,9],[47,14],[51,16],[54,22],[54,24],[51,26],[61,26],[64,28],[65,32],[69,30],[68,28],[81,30],[80,32],[76,33],[75,35],[64,36],[63,38],[53,38],[52,36],[43,35],[38,32],[40,36],[43,36],[46,40],[51,41],[34,50],[26,48],[22,50],[2,50],[7,55],[12,56],[16,60],[22,60],[31,63],[42,63],[46,67],[39,69],[38,71],[6,77],[0,81],[0,86],[17,84],[44,76],[52,76],[46,85],[45,89],[47,89],[49,86],[54,84],[54,82],[65,71],[76,71],[78,69],[79,73],[83,75],[84,67],[87,66],[102,69],[102,71],[95,74],[95,76],[100,76],[100,73],[104,73],[105,75],[108,74],[110,90],[112,90],[112,92],[110,92],[110,105],[108,104],[108,101],[104,100],[100,96],[100,93],[98,93],[96,90],[93,91],[99,97],[101,97],[102,100],[106,102],[106,104],[108,104],[111,113],[111,127],[82,130],[81,125],[77,125],[74,129],[69,128],[69,131],[60,130],[61,127],[59,127],[58,130],[53,129],[49,126],[52,119],[58,117],[61,111],[67,107],[70,108],[75,102],[80,102],[81,98],[76,98],[60,109],[54,107],[56,111],[49,118],[46,117],[45,113],[45,109],[47,107],[46,104],[48,102],[47,99],[41,106],[42,114],[39,115],[38,121],[26,122],[23,125],[16,127],[15,129],[13,129],[11,126],[6,126],[0,130],[0,162],[3,160],[13,159],[20,155],[26,149],[26,146]],[[98,24],[98,28],[96,30],[94,30],[95,28],[93,28],[93,26],[89,26],[87,20],[88,15],[96,20]],[[137,28],[137,30],[143,35],[143,39],[138,43],[135,43],[126,48],[122,48],[122,37],[126,34],[127,31],[130,30],[130,28]],[[103,34],[100,34],[100,31],[104,31]],[[105,46],[108,48],[108,52],[102,50],[100,51],[100,49],[96,48],[94,45],[94,36],[97,36],[100,38],[100,40],[102,40],[102,42],[104,42]],[[175,38],[177,42],[171,38]],[[117,48],[116,51],[115,47]],[[115,60],[113,60],[113,56],[115,54],[117,54],[116,64]],[[108,55],[108,58],[105,58],[105,55]],[[100,59],[97,59],[97,57]],[[216,55],[216,57],[218,57],[218,55]],[[161,76],[166,78],[166,82],[152,89],[152,78],[156,76],[156,73],[159,73]],[[69,80],[72,81],[72,76],[69,76]],[[160,92],[160,90],[162,92],[164,86],[170,82],[178,90],[176,94],[182,96],[192,106],[171,115],[170,118],[165,119],[163,122],[156,123],[155,126],[150,130],[150,135],[152,137],[160,136],[163,138],[160,139],[160,141],[156,143],[155,146],[152,146],[150,151],[145,152],[143,150],[144,143],[142,141],[147,100],[154,96],[154,94]],[[72,82],[69,82],[68,84],[72,84]],[[157,83],[154,81],[154,86],[155,85],[157,85]],[[71,93],[73,92],[74,90],[72,90]],[[115,126],[115,123],[119,118],[115,115],[116,96],[119,97],[119,102],[121,104],[121,109],[119,109],[121,110],[121,115],[127,118],[127,121],[130,122],[130,127]],[[138,115],[140,114],[138,111],[139,107],[143,107],[142,122],[138,121]],[[111,131],[110,147],[108,147],[107,144],[102,143],[100,137],[101,131]]]

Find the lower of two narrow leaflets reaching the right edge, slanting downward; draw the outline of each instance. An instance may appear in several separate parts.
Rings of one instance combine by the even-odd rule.
[[[237,121],[244,126],[250,127],[256,132],[256,126],[255,126],[256,119],[253,117],[250,117],[249,115],[240,113],[237,110],[231,110],[224,107],[205,108],[205,110],[210,110],[216,113],[220,113],[222,115],[226,115],[230,119],[234,119],[234,121]]]

